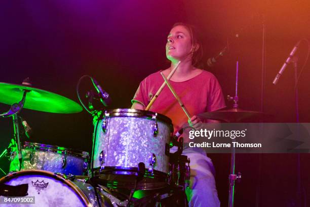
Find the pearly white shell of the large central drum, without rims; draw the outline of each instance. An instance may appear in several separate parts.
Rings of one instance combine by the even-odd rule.
[[[135,110],[140,111],[140,110]],[[123,168],[137,167],[143,162],[148,168],[152,154],[156,155],[153,169],[169,172],[169,157],[165,154],[166,145],[170,143],[171,120],[152,119],[152,112],[111,114],[99,120],[96,130],[94,149],[94,167],[100,167],[100,153],[103,152],[103,166]],[[143,113],[147,113],[143,114]],[[141,115],[142,114],[142,115]],[[145,115],[145,116],[144,116]],[[163,115],[161,115],[163,116]],[[105,122],[105,131],[102,126]],[[154,135],[153,126],[158,125],[158,134]]]

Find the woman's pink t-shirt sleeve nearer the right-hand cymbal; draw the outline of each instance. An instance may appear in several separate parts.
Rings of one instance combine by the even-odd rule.
[[[215,76],[210,81],[207,111],[212,112],[226,107],[224,95]]]

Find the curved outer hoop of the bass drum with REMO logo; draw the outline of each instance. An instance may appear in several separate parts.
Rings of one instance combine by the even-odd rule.
[[[43,175],[43,176],[48,176],[51,178],[54,178],[55,180],[61,181],[65,184],[67,184],[71,189],[73,189],[73,191],[80,195],[80,197],[82,198],[84,204],[86,206],[92,206],[91,202],[89,201],[89,199],[87,198],[87,196],[85,195],[85,193],[77,186],[75,185],[73,182],[68,182],[67,179],[64,179],[62,176],[54,174],[53,172],[50,171],[45,171],[45,170],[22,170],[22,171],[18,171],[18,172],[13,172],[12,174],[9,174],[3,178],[0,178],[0,183],[4,183],[6,181],[11,180],[12,178],[18,177],[19,175]]]

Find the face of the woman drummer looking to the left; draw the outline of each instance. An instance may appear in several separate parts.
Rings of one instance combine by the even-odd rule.
[[[166,44],[166,56],[172,62],[191,59],[192,41],[185,26],[178,25],[171,29]]]

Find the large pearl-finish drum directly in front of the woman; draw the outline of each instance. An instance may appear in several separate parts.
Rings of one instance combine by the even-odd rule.
[[[143,162],[146,170],[138,189],[167,185],[171,120],[134,109],[115,109],[103,115],[95,124],[93,158],[96,178],[106,181],[101,184],[133,188],[138,164]]]

